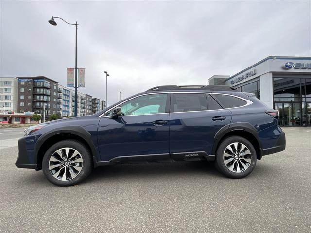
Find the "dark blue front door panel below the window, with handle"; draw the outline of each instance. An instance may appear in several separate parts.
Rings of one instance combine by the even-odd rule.
[[[102,161],[117,156],[168,154],[169,120],[169,113],[121,116],[118,119],[102,117],[98,125]]]

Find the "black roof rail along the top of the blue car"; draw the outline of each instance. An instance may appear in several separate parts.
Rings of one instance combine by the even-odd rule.
[[[223,85],[190,85],[190,86],[177,86],[177,85],[167,85],[167,86],[155,86],[147,91],[170,91],[170,90],[207,90],[207,91],[237,91],[237,89],[231,86]]]

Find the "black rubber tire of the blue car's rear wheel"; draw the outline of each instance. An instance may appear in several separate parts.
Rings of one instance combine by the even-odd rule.
[[[228,146],[232,145],[233,143],[238,143],[236,145],[238,145],[238,151],[236,151],[236,155],[238,155],[238,158],[235,157],[234,155],[234,146],[233,148],[231,148],[233,150],[233,153],[231,155],[231,157],[224,157],[224,153],[225,152],[231,152],[230,150],[226,149]],[[241,158],[239,156],[239,148],[242,148],[242,144],[244,146],[246,146],[246,149],[244,149],[243,151],[249,151],[250,155],[245,155],[244,153],[241,151]],[[245,152],[246,153],[246,152]],[[247,152],[248,153],[248,152]],[[251,156],[251,158],[249,158]],[[226,161],[230,161],[229,163],[227,163],[227,166],[225,165],[225,159],[229,159]],[[236,161],[235,161],[236,160]],[[246,162],[249,161],[248,162]],[[256,160],[257,160],[257,155],[256,155],[256,150],[254,148],[254,146],[245,138],[240,137],[240,136],[230,136],[225,138],[218,146],[217,148],[217,152],[216,152],[216,160],[215,160],[215,166],[216,168],[223,173],[225,176],[229,177],[229,178],[235,178],[235,179],[239,179],[239,178],[243,178],[245,176],[248,176],[255,168],[256,166]],[[235,165],[233,165],[235,163]],[[232,171],[229,169],[229,167],[231,168],[233,165],[233,169]],[[248,165],[248,166],[247,166]],[[237,166],[239,166],[239,168],[237,168]],[[244,169],[244,166],[247,166],[246,169]],[[240,169],[241,167],[241,169]],[[239,172],[239,170],[240,172]],[[244,169],[244,170],[242,170]]]

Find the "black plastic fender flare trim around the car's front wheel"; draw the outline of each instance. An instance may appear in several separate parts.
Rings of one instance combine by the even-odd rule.
[[[94,165],[97,163],[97,151],[91,139],[91,134],[88,133],[82,126],[78,126],[78,125],[65,126],[61,128],[52,129],[51,131],[48,131],[47,133],[44,133],[42,136],[40,136],[38,141],[35,144],[35,161],[37,161],[39,150],[41,146],[46,142],[46,140],[48,140],[49,138],[57,134],[64,134],[64,133],[74,134],[74,135],[77,135],[83,138],[88,144],[88,146],[91,148]]]

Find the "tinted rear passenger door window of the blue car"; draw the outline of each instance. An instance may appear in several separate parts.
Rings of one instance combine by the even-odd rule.
[[[173,93],[171,99],[171,113],[207,110],[206,94]]]

